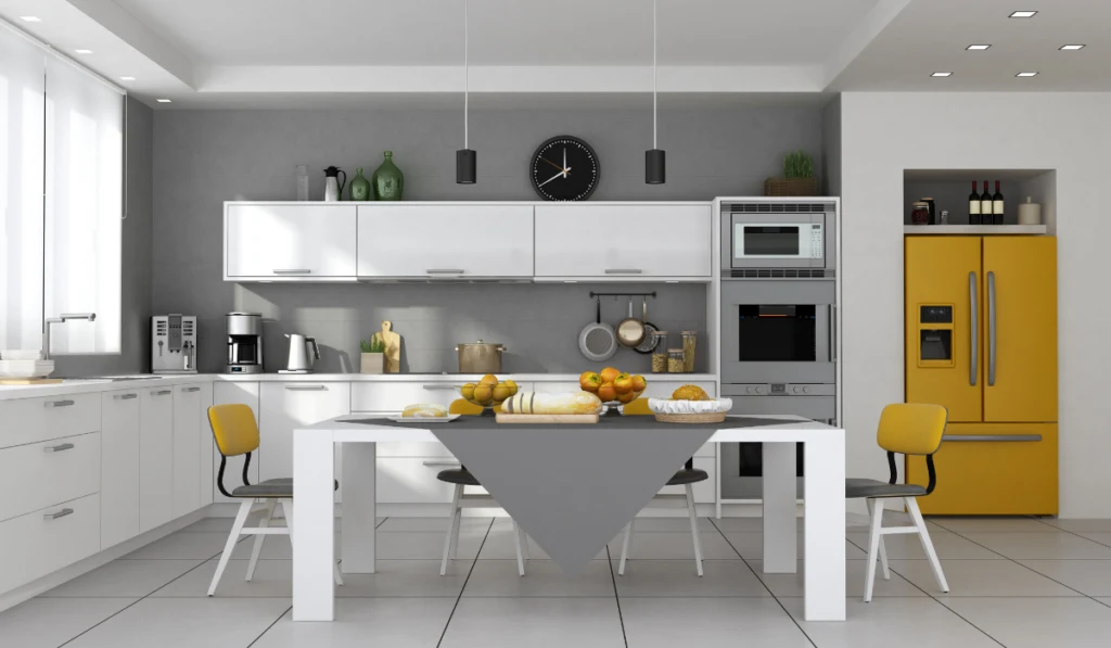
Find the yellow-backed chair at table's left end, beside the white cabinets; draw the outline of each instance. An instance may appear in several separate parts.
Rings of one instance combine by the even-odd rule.
[[[247,566],[247,580],[254,576],[254,566],[259,561],[259,554],[262,552],[262,541],[267,536],[289,536],[292,542],[293,536],[293,480],[268,479],[259,483],[251,483],[248,478],[248,469],[251,466],[251,452],[259,448],[259,427],[254,422],[254,412],[246,405],[217,405],[208,410],[209,423],[212,426],[212,436],[216,437],[216,447],[220,451],[220,471],[217,475],[217,488],[224,497],[243,500],[236,515],[236,522],[228,535],[228,542],[220,555],[220,564],[212,576],[212,584],[209,586],[209,596],[216,594],[216,588],[220,584],[220,577],[228,566],[231,552],[236,549],[236,544],[240,536],[254,536],[254,547],[251,549],[251,561]],[[223,486],[223,471],[228,465],[228,457],[247,455],[243,461],[243,486],[228,489]],[[339,485],[337,485],[338,487]],[[262,508],[254,509],[254,500],[264,499]],[[270,527],[270,520],[274,515],[274,507],[281,504],[286,514],[284,527]],[[252,512],[264,512],[259,527],[244,527],[247,518]],[[343,585],[339,568],[332,565],[332,575],[336,582]]]

